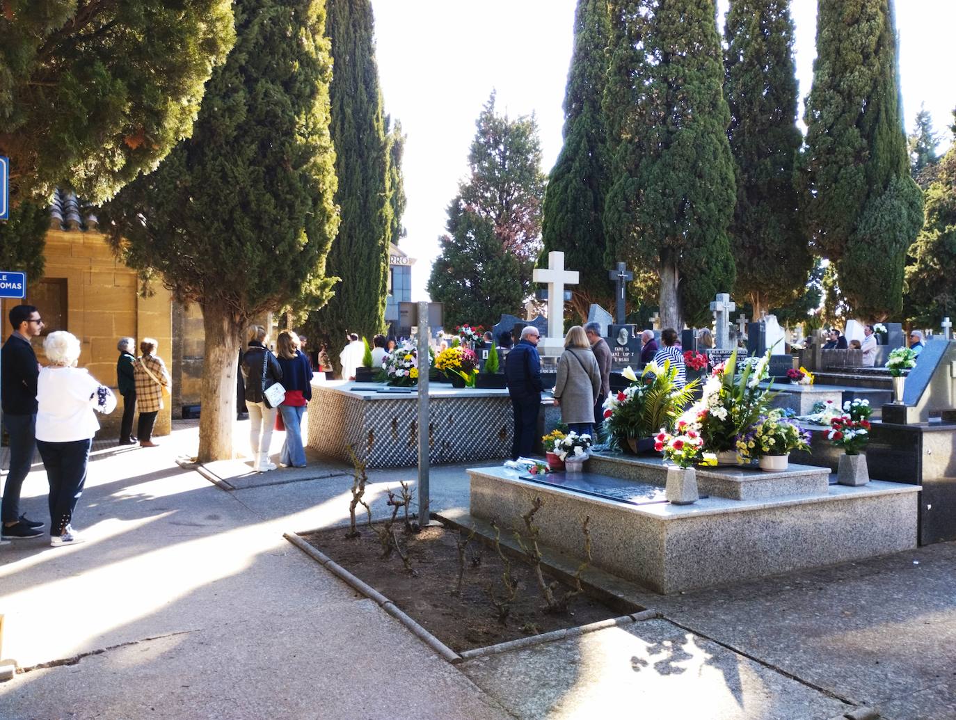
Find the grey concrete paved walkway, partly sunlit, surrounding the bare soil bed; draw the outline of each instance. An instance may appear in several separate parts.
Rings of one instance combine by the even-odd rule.
[[[347,518],[348,468],[224,491],[175,465],[195,446],[183,425],[98,446],[88,542],[0,547],[0,655],[22,668],[0,718],[956,718],[954,544],[636,596],[663,618],[452,666],[283,539]],[[381,497],[415,473],[370,474]],[[27,513],[45,486],[34,467]],[[467,506],[461,467],[431,487],[436,510]]]

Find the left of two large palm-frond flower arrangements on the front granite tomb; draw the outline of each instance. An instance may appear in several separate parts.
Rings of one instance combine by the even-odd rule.
[[[611,393],[603,404],[604,431],[614,446],[630,445],[637,452],[639,441],[652,438],[660,427],[674,425],[698,387],[693,381],[679,388],[677,372],[670,360],[663,367],[648,362],[640,379],[630,367],[624,368],[621,375],[631,384]]]

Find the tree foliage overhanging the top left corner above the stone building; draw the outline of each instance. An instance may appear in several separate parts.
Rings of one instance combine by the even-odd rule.
[[[54,187],[98,203],[187,137],[235,39],[232,10],[228,0],[0,7],[0,155],[11,162],[0,266],[37,277],[49,216],[37,218]]]

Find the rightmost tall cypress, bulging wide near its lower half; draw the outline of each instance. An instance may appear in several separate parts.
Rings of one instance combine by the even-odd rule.
[[[836,262],[858,316],[902,309],[906,250],[923,225],[901,105],[890,0],[820,3],[801,185],[815,250]]]

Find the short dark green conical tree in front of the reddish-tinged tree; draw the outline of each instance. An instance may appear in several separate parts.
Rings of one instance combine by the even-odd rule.
[[[491,219],[457,197],[448,207],[447,229],[428,278],[428,295],[445,304],[445,327],[490,327],[505,313],[517,314],[524,296],[521,263],[502,245]]]

